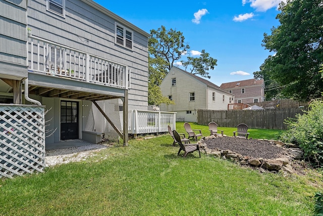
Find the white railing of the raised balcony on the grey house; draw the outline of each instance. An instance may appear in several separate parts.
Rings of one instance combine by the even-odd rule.
[[[29,36],[28,45],[29,72],[130,88],[131,71],[126,65],[36,36]]]

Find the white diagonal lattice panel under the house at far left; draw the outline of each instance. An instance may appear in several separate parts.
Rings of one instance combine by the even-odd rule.
[[[0,178],[44,167],[44,107],[0,105]]]

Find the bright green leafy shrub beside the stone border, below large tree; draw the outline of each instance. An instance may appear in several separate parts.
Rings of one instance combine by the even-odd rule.
[[[287,119],[282,139],[299,145],[304,156],[318,166],[323,162],[323,101],[313,101],[304,114]]]

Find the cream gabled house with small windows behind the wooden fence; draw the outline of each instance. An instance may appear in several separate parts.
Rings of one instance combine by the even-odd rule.
[[[164,97],[175,105],[160,105],[161,111],[177,112],[178,121],[197,121],[197,110],[227,110],[234,95],[218,85],[175,66],[160,84]]]

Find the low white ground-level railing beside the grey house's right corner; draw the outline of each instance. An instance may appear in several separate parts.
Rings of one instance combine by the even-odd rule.
[[[176,129],[176,112],[146,110],[129,111],[129,134],[152,134],[168,132],[168,125]]]

